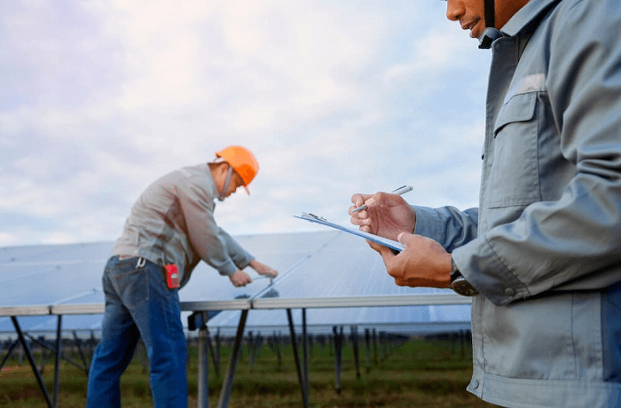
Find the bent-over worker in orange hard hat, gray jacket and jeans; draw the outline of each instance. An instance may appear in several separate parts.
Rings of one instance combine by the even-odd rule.
[[[260,275],[278,274],[248,254],[214,219],[214,200],[224,200],[240,186],[248,192],[258,169],[253,153],[233,145],[217,152],[214,161],[161,177],[140,195],[104,271],[106,311],[90,365],[88,407],[121,406],[119,380],[141,337],[155,407],[187,406],[178,289],[201,260],[233,286],[252,281],[242,271],[247,266]]]

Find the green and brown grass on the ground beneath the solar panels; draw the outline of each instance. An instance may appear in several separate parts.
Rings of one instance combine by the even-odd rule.
[[[216,406],[222,387],[229,349],[223,347],[222,374],[209,366],[209,406]],[[139,353],[122,376],[122,406],[152,407],[148,373],[144,373]],[[341,392],[335,388],[334,351],[315,344],[310,356],[310,401],[313,408],[354,407],[493,407],[466,391],[472,373],[469,355],[453,349],[452,343],[415,339],[373,361],[366,368],[366,349],[360,349],[360,378],[354,365],[353,349],[346,343],[342,352]],[[189,406],[197,405],[196,349],[191,348],[188,363]],[[211,364],[211,363],[210,363]],[[28,363],[12,362],[0,373],[0,407],[30,408],[46,406],[43,394]],[[53,364],[47,365],[43,379],[53,389]],[[63,365],[60,374],[60,406],[85,405],[86,374],[73,365]],[[249,364],[248,349],[238,364],[232,395],[232,408],[285,408],[302,406],[291,348],[283,349],[279,366],[276,354],[263,345],[255,364]]]

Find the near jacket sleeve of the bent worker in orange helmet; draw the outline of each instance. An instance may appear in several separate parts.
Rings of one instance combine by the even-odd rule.
[[[232,275],[238,268],[229,255],[227,240],[216,225],[213,199],[208,197],[200,184],[192,183],[179,186],[177,199],[193,249],[221,275]]]

